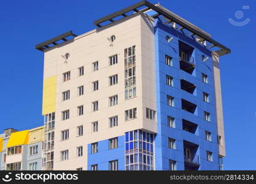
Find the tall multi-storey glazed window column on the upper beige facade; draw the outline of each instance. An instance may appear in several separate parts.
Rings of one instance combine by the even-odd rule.
[[[125,99],[136,97],[135,45],[125,48]]]

